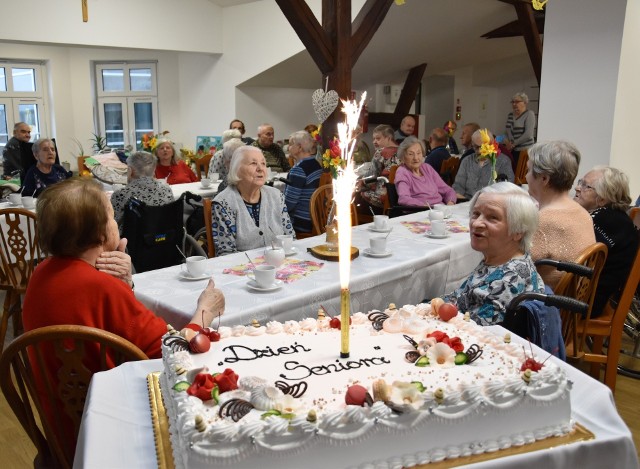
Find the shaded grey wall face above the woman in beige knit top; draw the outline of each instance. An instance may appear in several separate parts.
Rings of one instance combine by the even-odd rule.
[[[574,142],[582,153],[580,175],[611,157],[626,3],[547,3],[538,140]],[[637,97],[637,90],[628,91]],[[629,148],[622,140],[619,145]]]

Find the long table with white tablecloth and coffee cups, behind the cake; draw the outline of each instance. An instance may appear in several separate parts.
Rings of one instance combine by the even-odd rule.
[[[370,225],[352,229],[352,245],[360,256],[351,263],[351,310],[383,309],[390,302],[415,304],[424,298],[453,291],[480,261],[480,254],[471,249],[469,233],[452,233],[446,239],[430,239],[415,234],[403,222],[425,221],[428,212],[420,212],[390,220],[393,228],[387,245],[390,257],[373,258],[364,255],[369,238],[380,236],[370,231]],[[450,219],[468,225],[468,205],[457,205]],[[323,306],[333,315],[340,308],[340,283],[337,262],[322,261],[307,252],[307,248],[324,244],[318,236],[294,242],[297,253],[291,256],[302,261],[322,263],[322,267],[306,277],[285,283],[273,292],[254,292],[247,287],[248,278],[224,274],[224,269],[248,264],[244,253],[207,260],[209,273],[226,298],[222,325],[248,324],[253,319],[285,321],[315,316]],[[263,249],[248,251],[255,259]],[[157,315],[176,328],[183,327],[195,311],[199,293],[207,280],[188,281],[181,277],[181,266],[145,272],[134,276],[136,297]]]

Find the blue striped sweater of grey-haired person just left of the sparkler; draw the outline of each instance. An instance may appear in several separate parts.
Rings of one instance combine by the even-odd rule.
[[[321,174],[322,168],[315,155],[300,160],[289,171],[284,201],[293,229],[301,233],[311,232],[311,195],[318,188]]]

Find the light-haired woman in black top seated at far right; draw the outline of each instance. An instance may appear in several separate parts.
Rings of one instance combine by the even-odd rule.
[[[591,215],[596,241],[609,249],[591,310],[598,317],[619,293],[638,251],[638,230],[627,215],[629,178],[619,169],[596,166],[578,181],[574,200]]]

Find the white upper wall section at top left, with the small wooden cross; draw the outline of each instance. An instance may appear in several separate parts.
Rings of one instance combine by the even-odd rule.
[[[5,2],[7,3],[7,2]],[[222,8],[208,0],[21,0],[2,8],[0,40],[216,53]],[[25,12],[37,12],[25,16]],[[160,14],[158,14],[160,13]]]

